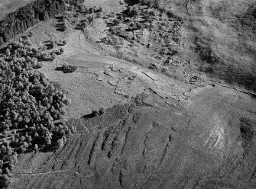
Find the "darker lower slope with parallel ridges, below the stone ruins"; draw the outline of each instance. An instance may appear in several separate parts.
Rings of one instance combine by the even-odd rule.
[[[70,120],[62,149],[20,157],[13,187],[256,187],[256,102],[222,87],[193,94],[185,109],[151,94]]]

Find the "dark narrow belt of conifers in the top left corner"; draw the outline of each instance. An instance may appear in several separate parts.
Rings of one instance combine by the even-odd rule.
[[[66,5],[78,6],[83,0],[36,0],[13,11],[0,21],[0,45],[23,33],[39,21],[65,11]]]

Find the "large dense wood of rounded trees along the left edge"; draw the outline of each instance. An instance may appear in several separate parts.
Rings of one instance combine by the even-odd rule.
[[[18,153],[63,146],[66,136],[76,130],[65,124],[70,104],[66,94],[34,69],[50,56],[44,50],[44,45],[31,46],[26,37],[1,50],[5,52],[0,54],[1,188],[8,186]]]

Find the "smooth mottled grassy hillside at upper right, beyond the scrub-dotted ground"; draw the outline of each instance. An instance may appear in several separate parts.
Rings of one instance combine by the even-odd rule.
[[[197,11],[201,8],[201,12]],[[254,1],[190,2],[191,46],[200,70],[232,85],[256,90]]]

